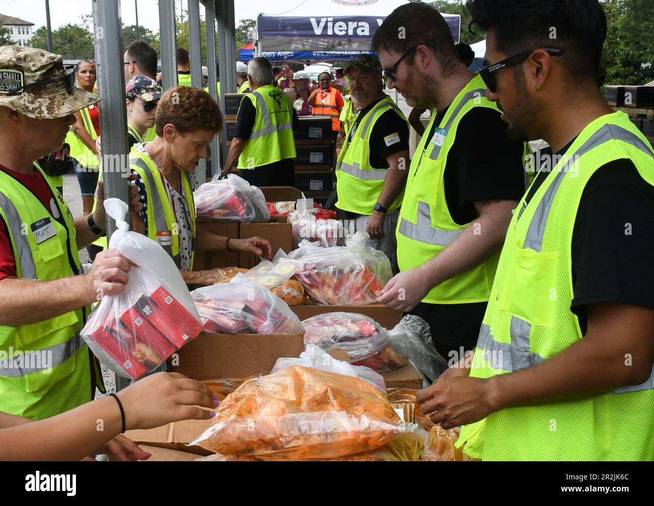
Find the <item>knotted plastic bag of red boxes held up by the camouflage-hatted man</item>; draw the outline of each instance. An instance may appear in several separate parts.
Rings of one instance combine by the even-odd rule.
[[[194,339],[202,324],[173,259],[156,241],[129,231],[128,205],[107,199],[105,210],[118,227],[109,248],[139,267],[131,268],[120,294],[101,298],[81,335],[114,373],[137,379]]]

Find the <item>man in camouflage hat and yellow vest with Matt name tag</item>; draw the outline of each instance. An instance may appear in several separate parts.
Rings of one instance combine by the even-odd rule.
[[[103,234],[104,199],[73,218],[35,160],[61,150],[73,113],[99,97],[73,86],[61,56],[0,46],[0,411],[41,420],[103,389],[79,335],[90,304],[117,294],[129,262],[98,254],[84,274],[78,250]]]

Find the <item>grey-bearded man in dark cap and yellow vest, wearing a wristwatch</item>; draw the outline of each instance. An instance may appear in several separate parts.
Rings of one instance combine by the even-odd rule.
[[[361,54],[345,67],[360,105],[336,162],[336,207],[341,218],[370,235],[398,272],[395,229],[409,167],[409,124],[384,93],[377,56]]]

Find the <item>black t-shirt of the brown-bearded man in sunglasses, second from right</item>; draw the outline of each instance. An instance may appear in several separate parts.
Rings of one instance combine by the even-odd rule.
[[[436,115],[427,136],[449,107]],[[445,163],[445,202],[456,224],[464,225],[479,216],[473,203],[484,200],[520,200],[525,194],[525,144],[511,141],[500,112],[474,107],[461,118],[456,139]],[[414,156],[419,156],[415,154]]]

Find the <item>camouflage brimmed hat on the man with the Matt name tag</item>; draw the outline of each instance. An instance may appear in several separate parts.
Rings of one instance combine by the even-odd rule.
[[[100,97],[73,86],[58,54],[22,46],[0,46],[0,107],[29,118],[63,118]]]

